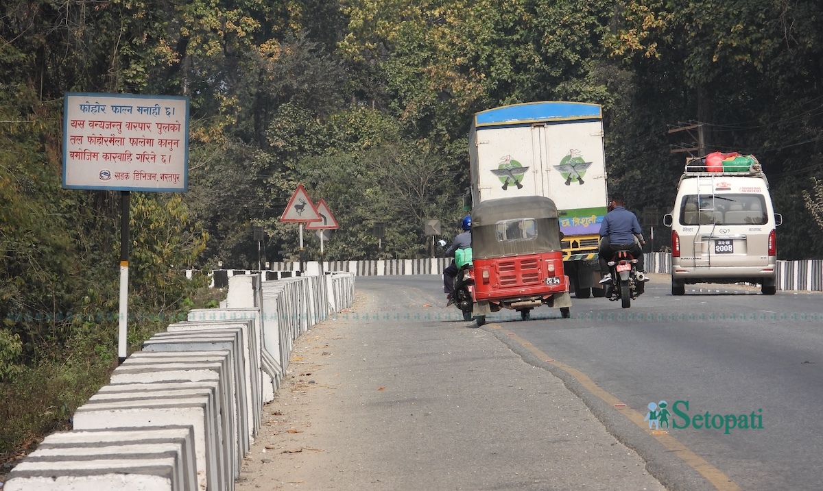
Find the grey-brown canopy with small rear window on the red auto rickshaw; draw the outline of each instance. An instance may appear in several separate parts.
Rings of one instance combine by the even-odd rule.
[[[543,196],[486,200],[472,209],[472,255],[491,259],[560,250],[555,202]]]

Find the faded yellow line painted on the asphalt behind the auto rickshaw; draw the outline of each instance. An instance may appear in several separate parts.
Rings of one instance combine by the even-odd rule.
[[[565,363],[553,360],[551,356],[548,356],[543,351],[537,349],[537,347],[533,346],[531,342],[526,341],[523,337],[519,337],[517,334],[509,331],[508,329],[502,328],[499,324],[489,324],[489,327],[497,329],[501,333],[505,333],[507,336],[514,339],[514,341],[520,343],[520,345],[526,348],[526,350],[532,353],[532,355],[537,356],[540,360],[544,360],[546,363],[549,363],[556,368],[565,371],[565,373],[570,374],[580,383],[580,385],[586,388],[588,392],[592,392],[603,402],[613,406],[616,411],[620,412],[622,415],[625,415],[625,417],[632,423],[637,424],[640,429],[643,429],[659,443],[663,444],[663,447],[666,447],[674,455],[680,457],[682,461],[686,462],[687,466],[690,466],[692,469],[700,472],[700,475],[703,475],[703,477],[706,478],[709,483],[714,485],[718,491],[742,491],[737,484],[729,479],[728,475],[723,474],[722,470],[712,466],[703,457],[700,457],[695,452],[692,452],[689,447],[686,447],[686,445],[677,440],[677,438],[672,437],[672,435],[668,434],[667,431],[652,431],[651,429],[646,429],[648,424],[646,424],[645,416],[643,414],[630,408],[625,404],[625,402],[621,402],[620,399],[614,397],[611,393],[601,388],[592,379],[589,379],[587,374],[584,374],[579,369],[575,369]]]

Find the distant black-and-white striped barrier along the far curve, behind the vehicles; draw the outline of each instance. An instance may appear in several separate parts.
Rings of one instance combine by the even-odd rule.
[[[647,252],[646,269],[649,273],[672,272],[672,255],[668,252]],[[305,263],[307,274],[346,272],[356,276],[388,276],[393,274],[442,274],[449,265],[446,258],[379,259],[363,261],[310,261]],[[225,287],[228,278],[235,275],[263,273],[264,280],[277,280],[303,274],[300,263],[273,263],[271,269],[259,272],[249,269],[215,269],[212,287]],[[188,272],[189,276],[191,272]],[[795,291],[823,291],[823,259],[777,262],[777,289]]]

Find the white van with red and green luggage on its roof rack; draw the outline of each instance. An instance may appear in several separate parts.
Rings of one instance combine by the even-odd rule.
[[[783,217],[774,213],[760,163],[746,157],[748,168],[686,163],[674,209],[663,217],[672,227],[672,295],[683,295],[686,284],[735,282],[759,283],[774,295],[775,227]]]

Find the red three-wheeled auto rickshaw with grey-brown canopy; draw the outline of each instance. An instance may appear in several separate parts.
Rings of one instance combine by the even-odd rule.
[[[561,238],[557,207],[549,198],[486,200],[472,209],[471,308],[478,326],[500,309],[517,310],[527,320],[540,305],[570,317]]]

